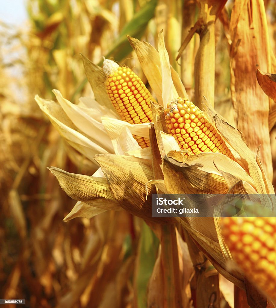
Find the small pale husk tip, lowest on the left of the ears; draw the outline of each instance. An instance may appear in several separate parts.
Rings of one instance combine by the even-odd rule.
[[[104,213],[106,209],[96,208],[82,201],[78,201],[70,213],[68,213],[63,221],[67,222],[76,217],[84,217],[90,219],[98,214]]]

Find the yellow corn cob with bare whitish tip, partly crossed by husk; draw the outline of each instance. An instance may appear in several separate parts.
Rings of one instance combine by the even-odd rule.
[[[120,67],[112,60],[104,60],[107,76],[106,90],[123,121],[130,124],[152,122],[150,101],[155,102],[142,80],[128,67]],[[149,139],[134,136],[141,148],[150,145]]]

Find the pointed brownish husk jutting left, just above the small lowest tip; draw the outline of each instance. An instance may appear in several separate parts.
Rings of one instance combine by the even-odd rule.
[[[105,178],[69,173],[55,167],[48,169],[72,199],[83,201],[100,209],[121,210]]]

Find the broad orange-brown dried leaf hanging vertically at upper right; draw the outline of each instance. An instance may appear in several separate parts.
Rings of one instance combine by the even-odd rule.
[[[270,45],[262,1],[236,1],[230,21],[231,94],[237,128],[248,147],[260,156],[266,175],[272,179],[268,115],[270,101],[256,78],[256,69],[270,70]]]

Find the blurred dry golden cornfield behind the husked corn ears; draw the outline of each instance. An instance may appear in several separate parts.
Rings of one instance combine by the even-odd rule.
[[[91,176],[98,165],[62,138],[34,100],[56,101],[53,89],[75,105],[93,97],[87,59],[102,67],[104,56],[130,67],[160,101],[133,38],[160,52],[163,30],[190,101],[202,108],[205,96],[243,133],[254,157],[261,144],[262,168],[275,188],[275,75],[268,81],[260,73],[261,85],[272,83],[268,91],[256,76],[257,69],[276,73],[275,1],[27,0],[26,10],[25,25],[0,20],[0,298],[45,308],[275,307],[276,261],[272,301],[251,276],[230,281],[228,268],[190,236],[209,226],[216,234],[209,221],[160,225],[128,207],[68,216],[80,199],[47,167]],[[275,237],[274,244],[276,260]]]

